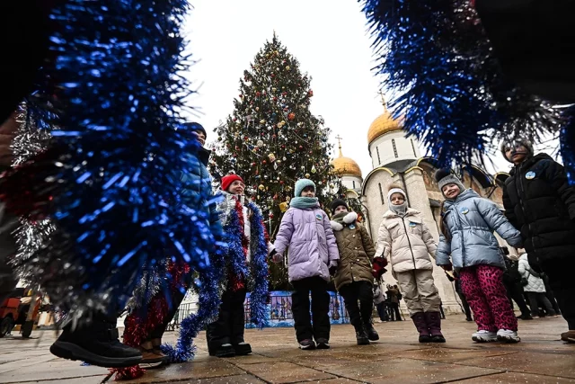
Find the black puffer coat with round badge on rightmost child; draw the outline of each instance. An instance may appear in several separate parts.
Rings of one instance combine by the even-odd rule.
[[[503,189],[505,215],[521,231],[531,265],[575,253],[575,188],[562,165],[539,154],[515,166]]]

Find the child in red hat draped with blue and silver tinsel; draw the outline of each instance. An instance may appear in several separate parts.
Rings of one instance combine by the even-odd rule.
[[[247,281],[246,272],[242,271],[242,268],[249,266],[252,273],[263,275],[267,279],[267,263],[265,271],[256,271],[260,263],[253,263],[254,255],[265,253],[267,260],[269,255],[274,255],[275,250],[268,241],[265,225],[258,219],[261,217],[260,208],[243,194],[242,177],[239,174],[227,174],[222,177],[220,185],[219,192],[223,199],[217,204],[217,210],[228,243],[225,255],[227,280],[217,320],[208,324],[206,328],[206,341],[210,356],[232,357],[252,353],[252,345],[245,343],[243,337],[245,331],[243,302],[247,290],[250,287],[254,288],[251,296],[253,299],[255,292],[261,291],[255,289],[255,284],[265,283],[267,287],[266,281]],[[258,215],[254,214],[255,211]],[[267,245],[259,241],[259,234],[262,233]],[[261,249],[263,246],[265,250]],[[234,250],[241,250],[240,255]]]

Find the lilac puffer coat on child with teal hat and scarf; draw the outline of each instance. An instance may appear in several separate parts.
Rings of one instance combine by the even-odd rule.
[[[329,267],[340,260],[332,226],[319,208],[290,208],[281,219],[274,243],[279,255],[289,248],[289,281],[320,276],[330,281]]]

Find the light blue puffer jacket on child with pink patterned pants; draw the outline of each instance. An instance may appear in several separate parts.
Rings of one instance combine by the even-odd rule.
[[[473,265],[494,265],[505,268],[505,261],[493,231],[510,246],[521,247],[521,234],[509,223],[497,206],[467,189],[446,201],[442,214],[450,239],[439,236],[436,262],[448,265],[451,255],[453,266],[465,268]]]

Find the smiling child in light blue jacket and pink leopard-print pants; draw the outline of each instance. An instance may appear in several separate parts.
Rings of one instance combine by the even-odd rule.
[[[451,171],[440,169],[435,178],[446,198],[436,263],[447,271],[455,267],[459,273],[477,324],[472,340],[518,343],[517,318],[503,285],[505,261],[493,231],[517,248],[522,246],[521,234],[492,201],[466,189]]]

